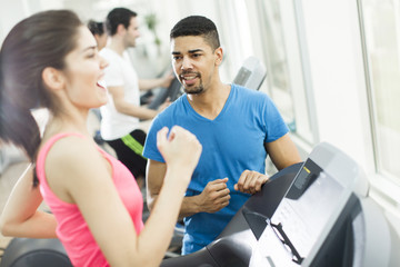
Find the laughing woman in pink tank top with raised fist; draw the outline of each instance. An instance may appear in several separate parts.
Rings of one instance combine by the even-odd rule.
[[[33,14],[10,31],[0,63],[0,138],[22,147],[36,162],[36,171],[28,170],[9,199],[2,233],[56,234],[74,266],[159,266],[201,154],[196,137],[180,127],[159,131],[168,170],[143,227],[136,180],[87,130],[89,110],[107,101],[101,85],[107,62],[88,28],[67,10]],[[37,107],[50,111],[42,137],[31,115]],[[41,197],[53,216],[36,211]],[[7,227],[9,217],[18,224]]]

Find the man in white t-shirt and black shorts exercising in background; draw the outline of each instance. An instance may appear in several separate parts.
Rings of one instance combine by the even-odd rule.
[[[168,87],[172,75],[160,79],[140,80],[130,62],[127,49],[136,46],[140,36],[137,13],[116,8],[109,12],[106,29],[109,44],[100,55],[109,62],[104,70],[104,80],[111,99],[101,107],[101,136],[116,151],[137,178],[139,186],[144,184],[147,159],[142,157],[144,131],[139,129],[139,119],[152,119],[169,102],[161,105],[159,110],[140,107],[140,91],[156,87]]]

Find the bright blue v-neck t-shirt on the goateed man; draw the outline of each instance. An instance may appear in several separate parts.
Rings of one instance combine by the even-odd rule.
[[[214,214],[199,212],[184,218],[182,254],[186,255],[207,246],[223,230],[250,197],[234,190],[233,185],[247,169],[266,172],[264,142],[284,136],[288,127],[272,100],[260,91],[232,85],[223,109],[213,120],[197,113],[184,93],[154,118],[143,156],[164,162],[157,149],[157,132],[176,125],[196,135],[202,145],[186,196],[199,195],[209,181],[224,177],[229,178],[231,196],[229,205]]]

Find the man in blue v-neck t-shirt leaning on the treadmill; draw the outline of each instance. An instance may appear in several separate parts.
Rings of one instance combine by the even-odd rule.
[[[203,146],[180,210],[186,255],[211,243],[251,194],[261,190],[268,180],[267,155],[278,169],[301,159],[288,127],[266,93],[222,83],[219,66],[223,51],[211,20],[199,16],[182,19],[170,38],[172,66],[186,93],[154,118],[143,155],[149,158],[151,209],[168,171],[157,149],[157,131],[179,125]]]

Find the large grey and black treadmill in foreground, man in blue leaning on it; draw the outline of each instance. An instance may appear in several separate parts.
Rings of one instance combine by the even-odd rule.
[[[161,266],[400,266],[362,169],[333,146],[271,177],[210,245]]]

